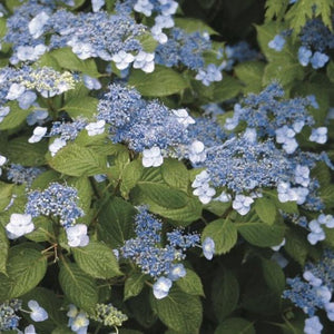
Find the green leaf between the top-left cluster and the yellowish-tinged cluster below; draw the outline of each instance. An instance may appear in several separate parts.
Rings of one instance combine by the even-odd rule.
[[[95,78],[100,76],[94,59],[81,60],[70,48],[52,50],[49,55],[65,69],[80,71]]]

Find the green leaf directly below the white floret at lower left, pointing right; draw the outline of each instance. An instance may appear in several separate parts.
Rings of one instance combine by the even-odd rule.
[[[92,277],[106,279],[121,275],[112,249],[99,242],[72,248],[72,253],[78,266]]]

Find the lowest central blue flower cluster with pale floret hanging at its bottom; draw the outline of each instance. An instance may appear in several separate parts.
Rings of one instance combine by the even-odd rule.
[[[126,240],[120,249],[121,256],[134,261],[143,273],[157,279],[154,293],[157,298],[163,298],[168,294],[171,282],[186,275],[184,266],[177,262],[186,257],[186,249],[198,244],[199,235],[175,229],[166,234],[167,244],[163,246],[163,223],[145,207],[139,208],[135,226],[136,237]],[[164,291],[166,284],[168,288]]]

